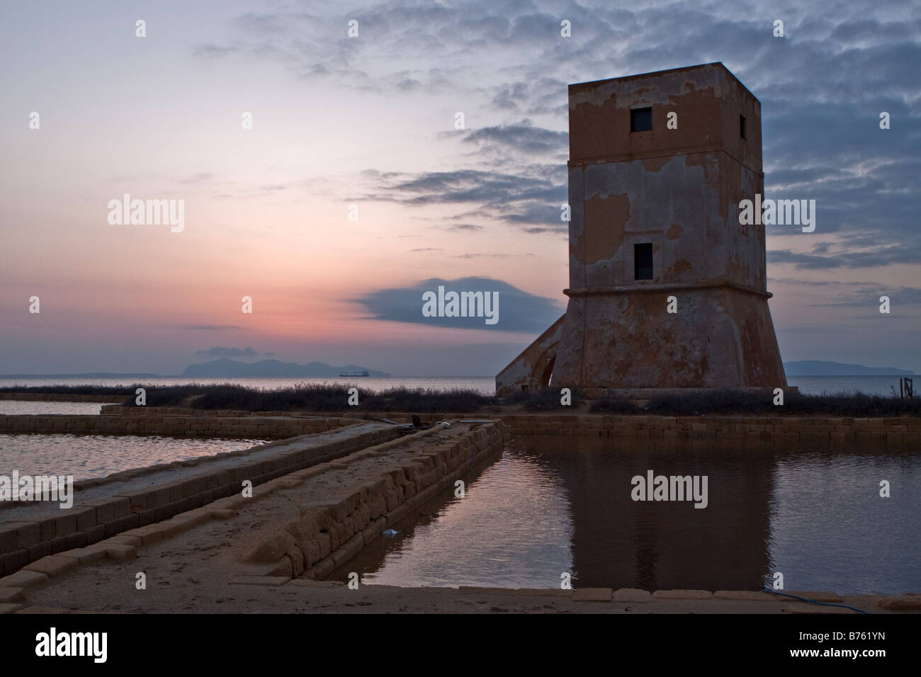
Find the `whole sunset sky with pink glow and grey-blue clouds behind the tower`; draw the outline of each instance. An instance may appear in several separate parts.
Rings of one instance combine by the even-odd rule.
[[[767,228],[784,360],[921,372],[919,36],[905,0],[3,3],[0,373],[494,375],[565,311],[566,86],[712,62],[765,197],[817,203]],[[124,194],[181,231],[110,223]],[[424,317],[439,285],[500,321]]]

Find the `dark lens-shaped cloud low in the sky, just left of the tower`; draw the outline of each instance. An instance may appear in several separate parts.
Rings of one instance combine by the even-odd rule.
[[[437,294],[438,286],[444,286],[445,293],[449,291],[497,292],[499,321],[496,324],[487,325],[484,323],[484,318],[424,317],[422,296],[427,291]],[[370,317],[376,320],[505,332],[542,332],[559,319],[564,311],[564,307],[551,298],[534,296],[507,282],[489,277],[463,277],[456,280],[434,278],[413,286],[379,289],[354,300],[363,305],[370,313]]]

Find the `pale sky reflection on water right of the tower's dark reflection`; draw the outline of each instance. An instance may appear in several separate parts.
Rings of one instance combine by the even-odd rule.
[[[881,480],[891,497],[880,497]],[[917,454],[787,456],[771,503],[772,569],[787,589],[921,590]]]

